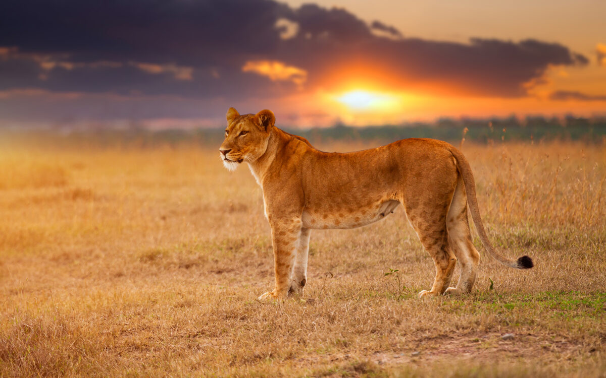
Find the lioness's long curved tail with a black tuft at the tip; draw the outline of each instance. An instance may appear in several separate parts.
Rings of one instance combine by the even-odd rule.
[[[478,209],[478,199],[476,198],[476,182],[473,179],[473,174],[471,173],[471,167],[464,157],[464,155],[458,149],[453,146],[449,146],[449,151],[453,154],[454,159],[457,162],[457,169],[459,174],[461,174],[463,178],[463,183],[465,184],[465,192],[467,192],[467,206],[469,206],[469,210],[471,212],[471,218],[473,218],[473,223],[476,225],[476,229],[478,230],[478,235],[480,236],[480,240],[482,244],[484,244],[484,248],[493,256],[496,261],[501,262],[504,266],[515,268],[515,269],[530,269],[534,266],[532,259],[529,256],[522,256],[517,260],[510,260],[505,258],[504,256],[499,255],[499,253],[494,250],[492,244],[490,244],[490,240],[488,240],[488,236],[486,235],[486,231],[484,230],[484,224],[482,224],[482,217],[480,217],[480,210]]]

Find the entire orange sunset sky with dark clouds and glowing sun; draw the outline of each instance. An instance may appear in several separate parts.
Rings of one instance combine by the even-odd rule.
[[[606,115],[606,2],[0,2],[0,126]]]

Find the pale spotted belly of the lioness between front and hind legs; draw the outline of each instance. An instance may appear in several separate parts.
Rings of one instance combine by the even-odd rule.
[[[303,227],[307,229],[353,229],[380,221],[398,207],[399,201],[385,200],[359,207],[331,206],[323,209],[305,208]]]

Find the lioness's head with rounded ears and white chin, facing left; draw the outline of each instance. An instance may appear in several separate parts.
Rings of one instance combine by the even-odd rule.
[[[236,109],[229,108],[225,140],[219,148],[225,168],[234,171],[242,161],[252,163],[261,157],[275,122],[273,112],[267,109],[241,116]]]

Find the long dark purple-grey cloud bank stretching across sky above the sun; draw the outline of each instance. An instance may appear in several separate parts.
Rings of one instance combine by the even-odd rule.
[[[276,27],[279,20],[296,24],[296,33],[284,38],[284,26]],[[247,62],[262,60],[304,70],[305,82],[242,71]],[[408,90],[524,96],[525,83],[539,80],[551,65],[587,61],[563,45],[531,39],[460,44],[403,38],[379,21],[368,25],[347,10],[314,4],[0,2],[0,91],[42,88],[241,100],[365,79]]]

